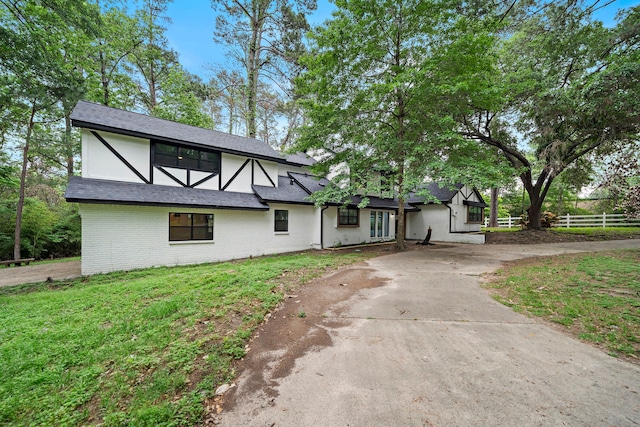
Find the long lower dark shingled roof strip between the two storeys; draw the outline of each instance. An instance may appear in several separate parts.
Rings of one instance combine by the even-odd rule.
[[[115,205],[185,206],[206,209],[268,210],[249,193],[107,181],[73,176],[64,194],[68,202]]]

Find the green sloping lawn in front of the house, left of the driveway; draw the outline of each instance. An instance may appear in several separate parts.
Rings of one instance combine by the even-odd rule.
[[[372,255],[301,253],[0,288],[0,424],[196,425],[288,284]]]

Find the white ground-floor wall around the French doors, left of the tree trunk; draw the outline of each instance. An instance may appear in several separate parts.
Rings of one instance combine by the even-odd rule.
[[[371,237],[371,211],[389,212],[389,236]],[[360,225],[338,226],[338,208],[331,206],[324,211],[324,247],[357,245],[360,243],[394,240],[396,214],[392,210],[359,209]]]

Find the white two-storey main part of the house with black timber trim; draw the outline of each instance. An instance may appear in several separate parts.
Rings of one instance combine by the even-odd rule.
[[[397,201],[315,207],[312,159],[262,141],[81,101],[82,274],[395,239]],[[407,206],[407,208],[411,208]]]

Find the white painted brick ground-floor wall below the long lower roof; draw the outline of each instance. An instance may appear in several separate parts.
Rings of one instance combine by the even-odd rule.
[[[273,209],[289,210],[289,232],[275,233]],[[214,214],[213,241],[169,242],[169,212]],[[312,247],[315,210],[270,211],[80,205],[82,274],[218,262]]]

